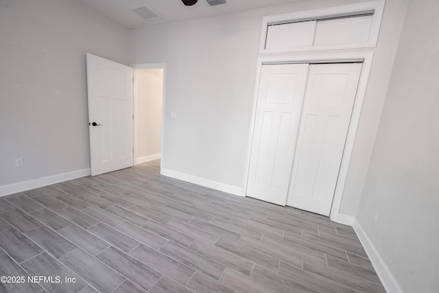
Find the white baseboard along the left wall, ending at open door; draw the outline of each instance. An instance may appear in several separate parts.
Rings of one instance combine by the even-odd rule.
[[[8,196],[9,194],[16,194],[17,192],[27,191],[30,189],[35,189],[47,185],[52,185],[68,180],[73,180],[76,178],[81,178],[85,176],[90,176],[91,169],[82,169],[73,172],[67,172],[62,174],[57,174],[54,176],[48,176],[43,178],[38,178],[34,180],[23,181],[19,183],[14,183],[10,185],[0,186],[0,196]]]

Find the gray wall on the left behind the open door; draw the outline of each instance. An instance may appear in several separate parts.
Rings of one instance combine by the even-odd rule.
[[[0,187],[90,167],[85,54],[128,64],[128,37],[77,0],[0,1]]]

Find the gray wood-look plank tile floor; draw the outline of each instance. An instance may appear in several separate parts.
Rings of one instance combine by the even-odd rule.
[[[0,292],[385,292],[351,227],[159,169],[0,198]]]

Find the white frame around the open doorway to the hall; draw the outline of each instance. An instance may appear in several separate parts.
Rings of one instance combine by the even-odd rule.
[[[165,161],[165,156],[163,155],[163,137],[165,134],[165,104],[166,104],[166,73],[167,73],[167,69],[166,69],[166,63],[139,63],[139,64],[132,64],[130,65],[130,67],[132,67],[132,69],[134,69],[134,82],[133,82],[133,86],[134,86],[134,101],[133,101],[133,113],[136,112],[137,109],[137,105],[138,105],[138,99],[137,99],[137,78],[136,78],[136,69],[163,69],[163,98],[162,98],[162,130],[161,130],[161,145],[160,145],[160,169],[163,169],[163,162]],[[137,145],[137,136],[136,136],[136,131],[137,131],[137,120],[136,120],[136,116],[134,115],[134,124],[133,124],[133,146],[134,146],[134,153],[132,156],[132,161],[133,161],[133,165],[136,165],[136,156],[137,156],[137,150],[136,150],[136,145]]]

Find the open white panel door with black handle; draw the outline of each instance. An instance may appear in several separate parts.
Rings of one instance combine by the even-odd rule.
[[[87,54],[91,174],[131,167],[133,70]]]

